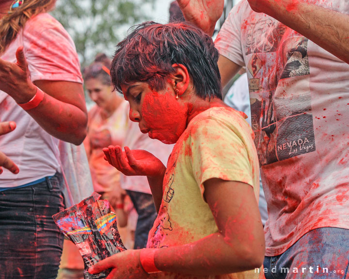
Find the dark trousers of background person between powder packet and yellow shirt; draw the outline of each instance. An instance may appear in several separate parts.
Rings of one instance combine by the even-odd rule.
[[[126,192],[138,214],[134,248],[142,249],[146,247],[149,231],[153,227],[158,213],[152,195],[130,190],[126,190]]]

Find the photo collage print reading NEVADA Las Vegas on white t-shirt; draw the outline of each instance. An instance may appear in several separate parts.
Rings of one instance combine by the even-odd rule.
[[[308,39],[270,18],[251,23],[246,32],[247,38],[265,38],[247,40],[245,45],[260,166],[314,152]],[[300,87],[305,89],[293,89]]]

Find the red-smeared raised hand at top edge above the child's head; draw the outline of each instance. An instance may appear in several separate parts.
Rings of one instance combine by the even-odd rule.
[[[187,21],[212,35],[217,20],[222,16],[224,0],[177,0]]]

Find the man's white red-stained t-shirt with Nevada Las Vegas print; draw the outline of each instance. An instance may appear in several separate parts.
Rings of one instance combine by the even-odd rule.
[[[349,13],[348,1],[317,4]],[[266,255],[316,228],[349,229],[349,65],[247,0],[232,9],[215,45],[247,68],[268,202]]]

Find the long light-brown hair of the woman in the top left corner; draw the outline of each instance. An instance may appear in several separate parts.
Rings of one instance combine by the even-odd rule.
[[[23,5],[3,16],[0,19],[0,53],[16,39],[28,19],[53,9],[55,2],[56,0],[25,0]]]

